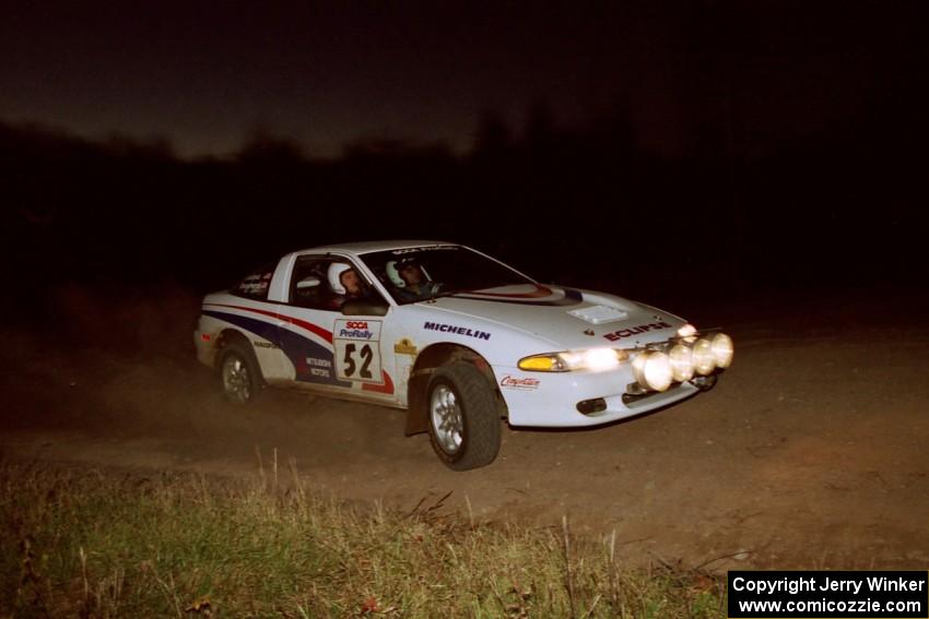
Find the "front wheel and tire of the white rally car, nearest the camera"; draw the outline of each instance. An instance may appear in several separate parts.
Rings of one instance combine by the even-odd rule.
[[[426,390],[430,442],[446,466],[486,466],[499,453],[501,416],[494,385],[465,361],[438,368]]]

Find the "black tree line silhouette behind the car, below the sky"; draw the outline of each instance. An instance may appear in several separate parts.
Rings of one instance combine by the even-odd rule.
[[[205,290],[292,249],[434,238],[625,294],[925,285],[919,118],[873,107],[763,153],[728,118],[670,157],[636,144],[622,106],[566,129],[539,105],[519,134],[484,115],[465,155],[368,141],[328,160],[268,135],[184,160],[165,141],[0,123],[7,279]]]

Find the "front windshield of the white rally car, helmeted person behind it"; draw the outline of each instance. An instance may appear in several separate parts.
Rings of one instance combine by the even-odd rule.
[[[513,269],[461,246],[393,249],[361,258],[401,305],[456,293],[534,284]]]

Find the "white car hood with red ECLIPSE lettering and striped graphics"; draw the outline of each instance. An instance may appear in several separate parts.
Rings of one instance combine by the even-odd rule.
[[[546,340],[553,349],[633,348],[673,336],[684,321],[622,297],[538,284],[462,291],[421,303]]]

